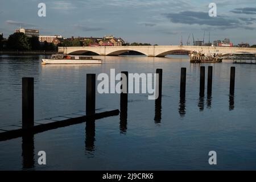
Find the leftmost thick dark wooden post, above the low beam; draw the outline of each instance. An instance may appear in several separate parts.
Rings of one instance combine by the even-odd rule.
[[[34,127],[34,78],[22,78],[22,129]]]

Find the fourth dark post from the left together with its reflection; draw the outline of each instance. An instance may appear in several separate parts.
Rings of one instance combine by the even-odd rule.
[[[156,74],[158,74],[158,98],[155,100],[155,123],[160,123],[162,119],[162,84],[163,84],[163,69],[156,69]]]

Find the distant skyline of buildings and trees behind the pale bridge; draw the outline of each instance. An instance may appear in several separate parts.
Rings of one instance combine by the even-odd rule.
[[[187,46],[190,45],[189,38]],[[181,40],[180,45],[183,46]],[[14,34],[9,38],[3,38],[2,32],[0,32],[0,49],[23,49],[23,50],[56,50],[57,47],[72,47],[72,46],[151,46],[149,43],[128,43],[121,37],[115,37],[113,35],[105,35],[103,37],[71,37],[65,38],[63,35],[40,35],[37,29],[18,28],[14,31]],[[154,46],[158,46],[155,44]],[[192,45],[191,45],[192,46]],[[211,47],[256,47],[256,45],[250,46],[248,43],[240,43],[234,45],[229,38],[224,40],[214,40],[213,43],[203,40],[195,40],[193,36],[193,46],[211,46]]]

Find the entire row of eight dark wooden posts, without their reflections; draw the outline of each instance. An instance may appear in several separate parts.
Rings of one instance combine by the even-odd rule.
[[[128,72],[121,72],[127,77],[126,88],[128,90]],[[163,69],[156,69],[159,74],[159,97],[156,104],[162,100],[162,80]],[[208,67],[207,94],[212,94],[213,67]],[[234,95],[235,67],[230,69],[230,96]],[[121,85],[122,90],[122,85]],[[205,92],[205,67],[200,67],[200,97],[204,97]],[[186,93],[186,68],[181,68],[180,75],[180,98],[184,99]],[[120,94],[120,109],[127,110],[128,93]],[[96,74],[86,75],[86,115],[95,114],[96,109]],[[127,114],[127,113],[126,113]],[[122,116],[121,116],[122,117]],[[34,126],[34,78],[22,78],[22,129],[28,129]]]

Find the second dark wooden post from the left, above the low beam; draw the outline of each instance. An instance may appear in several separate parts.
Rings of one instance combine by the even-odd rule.
[[[86,115],[95,114],[96,74],[86,75]]]

